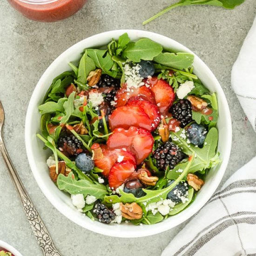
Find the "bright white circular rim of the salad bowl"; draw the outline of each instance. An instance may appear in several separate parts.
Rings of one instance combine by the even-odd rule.
[[[58,200],[57,197],[52,196],[50,190],[47,188],[47,186],[44,184],[44,182],[42,182],[42,178],[40,177],[40,175],[37,173],[37,168],[36,168],[36,162],[35,160],[30,157],[30,155],[33,155],[33,145],[31,143],[31,123],[32,123],[32,116],[33,116],[33,110],[34,107],[37,106],[36,104],[36,95],[40,94],[40,84],[42,83],[42,81],[45,79],[45,77],[47,77],[48,75],[51,74],[51,70],[57,66],[57,63],[63,59],[63,57],[68,54],[69,52],[72,52],[72,50],[74,48],[79,48],[82,45],[86,44],[87,41],[97,41],[97,40],[102,40],[102,38],[109,38],[111,40],[111,38],[121,35],[123,33],[128,33],[132,34],[135,37],[138,38],[145,38],[145,37],[156,37],[156,41],[167,41],[170,44],[170,47],[178,47],[178,48],[182,48],[182,51],[184,52],[188,52],[188,53],[192,53],[195,56],[195,59],[197,59],[197,62],[199,62],[200,66],[203,67],[202,70],[205,70],[207,72],[207,74],[210,76],[211,81],[214,82],[216,88],[218,88],[219,93],[218,93],[218,97],[222,98],[222,104],[223,104],[223,109],[225,109],[225,115],[226,115],[226,123],[227,123],[227,127],[226,130],[229,131],[229,133],[227,133],[227,143],[225,148],[223,149],[223,154],[226,155],[225,159],[222,159],[222,163],[220,164],[220,168],[218,169],[218,174],[215,177],[214,182],[212,182],[212,184],[210,184],[208,190],[206,191],[204,197],[201,199],[201,201],[197,202],[197,207],[193,207],[191,208],[188,207],[186,209],[187,214],[186,215],[177,215],[179,216],[176,220],[176,218],[174,218],[175,216],[172,216],[173,219],[175,219],[175,222],[169,222],[168,225],[163,224],[165,223],[165,221],[163,222],[159,222],[156,223],[154,225],[147,225],[150,227],[154,227],[152,229],[141,229],[141,226],[136,226],[138,227],[136,232],[133,232],[133,234],[131,235],[130,232],[123,232],[122,229],[107,229],[103,226],[97,226],[94,224],[93,221],[90,220],[90,222],[85,222],[83,221],[81,218],[78,217],[78,215],[75,215],[74,210],[71,209],[65,202],[60,202],[61,200]],[[138,35],[138,36],[137,36]],[[221,93],[220,93],[221,92]],[[229,157],[230,157],[230,153],[231,153],[231,145],[232,145],[232,123],[231,123],[231,116],[230,116],[230,111],[229,111],[229,105],[227,102],[227,98],[222,90],[222,87],[220,85],[220,83],[218,82],[218,80],[216,79],[215,75],[212,73],[212,71],[209,69],[209,67],[191,50],[189,50],[187,47],[185,47],[184,45],[182,45],[181,43],[167,37],[161,34],[157,34],[154,32],[149,32],[149,31],[145,31],[145,30],[136,30],[136,29],[120,29],[120,30],[111,30],[111,31],[107,31],[107,32],[103,32],[100,34],[95,34],[93,36],[90,36],[88,38],[85,38],[77,43],[75,43],[74,45],[72,45],[71,47],[67,48],[62,54],[60,54],[45,70],[45,72],[42,74],[42,76],[40,77],[40,80],[38,81],[36,87],[34,88],[33,94],[30,98],[29,101],[29,105],[27,108],[27,115],[26,115],[26,122],[25,122],[25,145],[26,145],[26,151],[27,151],[27,158],[28,158],[28,162],[30,165],[30,168],[32,170],[32,173],[34,175],[34,178],[38,184],[38,186],[40,187],[41,191],[43,192],[43,194],[47,197],[47,199],[52,203],[52,205],[61,212],[61,214],[63,214],[64,216],[66,216],[68,219],[70,219],[71,221],[75,222],[76,224],[80,225],[83,228],[86,228],[90,231],[94,231],[96,233],[99,233],[101,235],[106,235],[106,236],[114,236],[114,237],[123,237],[123,238],[135,238],[135,237],[144,237],[144,236],[151,236],[151,235],[155,235],[155,234],[159,234],[162,233],[164,231],[167,231],[168,229],[174,228],[175,226],[181,224],[182,222],[188,220],[191,216],[193,216],[196,212],[198,212],[203,205],[205,205],[205,203],[209,200],[209,198],[214,194],[214,192],[216,191],[217,187],[219,186],[222,177],[226,171],[228,162],[229,162]],[[79,213],[80,214],[80,213]],[[76,217],[77,216],[77,217]],[[102,223],[100,223],[101,225],[104,225]],[[107,225],[104,225],[107,226]],[[121,225],[120,225],[121,226]]]

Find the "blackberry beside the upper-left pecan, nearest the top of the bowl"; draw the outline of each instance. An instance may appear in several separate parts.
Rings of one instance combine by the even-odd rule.
[[[114,101],[116,91],[120,88],[120,81],[108,74],[102,74],[97,86],[99,91],[105,95],[104,100],[111,102]]]

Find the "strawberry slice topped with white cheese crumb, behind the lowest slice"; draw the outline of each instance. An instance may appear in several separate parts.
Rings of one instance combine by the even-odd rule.
[[[110,150],[106,145],[101,145],[101,151],[104,157],[95,159],[94,164],[96,167],[103,170],[102,174],[106,177],[116,162],[130,161],[136,164],[135,155],[126,149]]]

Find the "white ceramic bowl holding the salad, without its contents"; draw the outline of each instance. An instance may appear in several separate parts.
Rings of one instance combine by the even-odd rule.
[[[40,133],[40,114],[37,106],[42,103],[43,97],[47,92],[52,80],[57,75],[66,70],[70,70],[67,65],[69,61],[78,60],[80,53],[84,48],[99,47],[106,45],[112,38],[118,37],[127,32],[131,40],[138,40],[143,37],[148,37],[160,44],[163,47],[180,52],[190,52],[188,48],[168,37],[152,32],[142,30],[115,30],[101,34],[96,34],[86,38],[62,53],[41,76],[38,84],[34,89],[29,106],[27,109],[26,125],[25,125],[25,140],[27,148],[27,158],[34,174],[34,177],[48,200],[58,209],[63,215],[77,223],[81,227],[91,231],[116,237],[141,237],[150,236],[171,229],[180,223],[193,216],[202,206],[209,200],[211,195],[217,189],[222,180],[222,176],[229,162],[229,155],[232,142],[232,126],[229,112],[229,106],[222,88],[209,67],[200,60],[195,54],[194,73],[198,75],[203,84],[209,88],[211,92],[216,92],[219,104],[219,144],[218,151],[221,153],[222,164],[215,170],[209,172],[206,178],[205,185],[196,196],[193,202],[187,209],[181,213],[171,216],[163,222],[154,225],[134,226],[131,224],[112,224],[106,225],[100,222],[93,222],[87,216],[83,216],[72,205],[70,197],[61,192],[48,175],[48,167],[46,159],[50,155],[48,151],[43,150],[42,142],[37,139],[36,133]]]

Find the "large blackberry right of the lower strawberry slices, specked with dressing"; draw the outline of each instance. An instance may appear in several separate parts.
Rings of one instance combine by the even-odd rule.
[[[153,156],[157,167],[161,170],[166,170],[168,166],[173,169],[176,164],[182,161],[185,154],[174,143],[167,141],[155,150]]]

